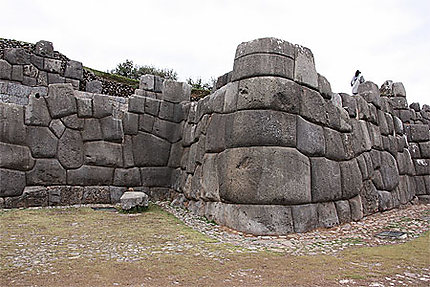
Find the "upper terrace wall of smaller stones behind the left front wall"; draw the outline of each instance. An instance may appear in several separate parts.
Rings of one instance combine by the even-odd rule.
[[[134,92],[134,88],[129,85],[110,81],[84,69],[81,62],[70,60],[55,51],[49,41],[31,44],[0,39],[0,80],[15,83],[14,86],[22,84],[27,87],[71,83],[76,90],[116,97],[128,97]],[[23,93],[16,99],[14,91],[11,89],[7,93],[0,93],[2,101],[18,104],[28,101]],[[5,99],[6,95],[11,97]]]

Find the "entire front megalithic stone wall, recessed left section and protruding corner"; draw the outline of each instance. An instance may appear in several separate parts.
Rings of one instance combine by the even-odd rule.
[[[190,102],[187,84],[147,75],[128,99],[54,84],[1,104],[0,204],[115,202],[132,187],[284,234],[428,201],[430,109],[409,108],[401,83],[336,94],[309,49],[264,38],[238,46],[216,87]]]

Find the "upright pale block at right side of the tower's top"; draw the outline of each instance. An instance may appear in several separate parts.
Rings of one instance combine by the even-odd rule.
[[[312,88],[318,88],[318,75],[312,51],[296,45],[294,56],[294,81]]]

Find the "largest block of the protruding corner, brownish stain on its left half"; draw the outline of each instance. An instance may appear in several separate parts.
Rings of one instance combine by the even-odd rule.
[[[240,204],[311,202],[309,159],[293,148],[247,147],[218,155],[220,196]]]

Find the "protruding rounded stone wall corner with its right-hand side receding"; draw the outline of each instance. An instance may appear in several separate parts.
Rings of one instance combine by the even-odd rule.
[[[282,234],[429,193],[428,159],[412,160],[409,145],[416,138],[426,149],[428,114],[403,126],[401,83],[389,96],[371,82],[358,95],[334,94],[309,49],[266,38],[239,45],[217,87],[190,105],[174,203],[237,230]]]

